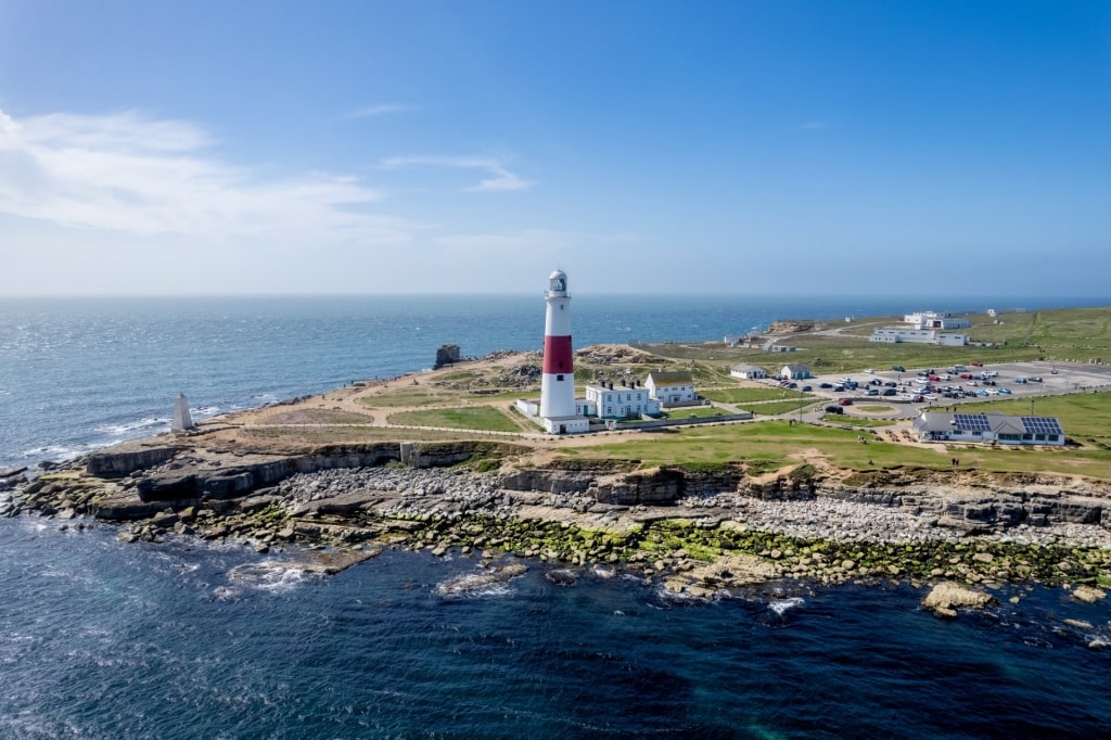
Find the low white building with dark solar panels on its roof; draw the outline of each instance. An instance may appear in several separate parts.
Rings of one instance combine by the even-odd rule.
[[[919,439],[933,442],[1064,444],[1064,430],[1055,417],[923,411],[914,420],[914,431]]]

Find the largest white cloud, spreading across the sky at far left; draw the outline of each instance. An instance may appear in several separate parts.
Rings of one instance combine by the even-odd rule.
[[[67,227],[198,238],[404,242],[350,177],[262,181],[204,150],[201,128],[127,111],[13,119],[0,111],[0,212]]]

